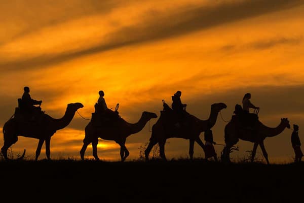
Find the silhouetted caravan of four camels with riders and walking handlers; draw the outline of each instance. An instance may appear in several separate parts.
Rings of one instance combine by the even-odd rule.
[[[92,144],[93,157],[99,160],[97,155],[98,138],[103,140],[115,141],[120,146],[121,161],[126,160],[129,151],[125,146],[126,140],[131,134],[135,134],[143,129],[150,119],[157,118],[157,114],[153,112],[143,111],[138,122],[129,123],[121,118],[118,112],[119,104],[115,111],[108,109],[103,98],[104,92],[99,91],[99,99],[95,104],[95,112],[92,113],[89,123],[85,127],[85,138],[83,146],[80,150],[80,157],[85,159],[85,151],[89,144]],[[214,103],[210,107],[210,115],[207,120],[201,120],[186,111],[186,104],[181,103],[181,91],[177,91],[172,96],[171,107],[163,100],[163,109],[157,122],[151,129],[151,137],[148,146],[144,151],[145,159],[149,160],[149,153],[153,147],[159,145],[159,154],[161,159],[166,160],[165,144],[169,138],[182,138],[189,140],[189,157],[193,159],[194,143],[196,142],[205,152],[205,158],[217,155],[214,151],[212,130],[216,124],[218,114],[227,106],[224,103]],[[253,143],[251,160],[254,161],[256,149],[260,146],[263,156],[269,164],[268,154],[265,150],[264,139],[274,137],[280,134],[285,128],[290,128],[287,118],[281,118],[277,127],[265,126],[258,119],[259,108],[250,102],[251,94],[245,94],[243,98],[243,106],[236,105],[230,121],[224,127],[225,145],[221,152],[221,161],[229,163],[230,153],[238,150],[235,145],[239,140],[249,141]],[[29,95],[29,88],[24,87],[22,98],[18,99],[18,107],[15,113],[3,126],[4,145],[1,153],[5,159],[8,158],[8,149],[18,141],[18,136],[38,139],[35,160],[38,159],[41,148],[45,142],[46,156],[50,159],[50,141],[51,137],[59,129],[66,127],[73,119],[75,112],[84,106],[81,103],[68,104],[65,114],[62,118],[56,119],[45,114],[40,106],[42,101],[34,100]],[[254,109],[253,113],[249,113],[249,109]],[[297,134],[298,126],[294,125],[292,136],[292,145],[295,151],[296,161],[300,161],[303,156],[299,146],[299,138]],[[205,144],[200,139],[200,134],[205,132]],[[25,150],[19,159],[24,157]]]

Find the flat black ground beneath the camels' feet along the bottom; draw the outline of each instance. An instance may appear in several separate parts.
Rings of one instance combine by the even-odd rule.
[[[0,201],[291,202],[303,197],[303,170],[304,163],[202,159],[0,161]]]

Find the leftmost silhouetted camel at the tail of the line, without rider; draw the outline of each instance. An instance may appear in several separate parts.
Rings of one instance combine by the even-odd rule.
[[[18,136],[23,136],[27,138],[39,139],[35,160],[38,159],[42,145],[44,142],[46,142],[46,155],[50,160],[51,137],[57,130],[66,127],[74,117],[75,112],[79,108],[83,107],[84,106],[81,103],[68,104],[64,116],[60,119],[52,118],[47,114],[43,114],[41,119],[35,122],[25,122],[20,121],[15,117],[11,118],[3,126],[4,145],[1,148],[3,156],[5,159],[8,159],[8,148],[18,141]],[[24,154],[25,150],[21,156],[22,158],[24,157]]]

